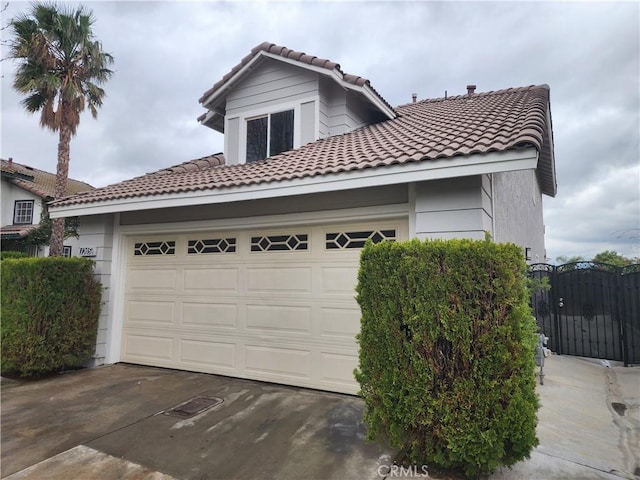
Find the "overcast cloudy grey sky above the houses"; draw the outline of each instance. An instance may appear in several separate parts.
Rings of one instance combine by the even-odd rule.
[[[72,178],[100,187],[222,151],[222,135],[196,121],[198,98],[269,41],[340,63],[392,105],[472,83],[478,92],[550,85],[558,195],[544,200],[549,258],[640,256],[637,2],[85,4],[115,74],[98,120],[86,113],[72,140]],[[28,8],[10,2],[2,25]],[[55,172],[57,135],[22,110],[14,67],[1,65],[2,158]]]

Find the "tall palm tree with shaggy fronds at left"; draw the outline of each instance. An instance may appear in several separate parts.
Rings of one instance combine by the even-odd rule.
[[[26,95],[22,105],[40,112],[40,126],[59,132],[55,198],[66,195],[69,176],[69,144],[85,107],[94,118],[102,106],[99,85],[111,74],[113,57],[102,51],[91,26],[91,11],[79,6],[34,3],[29,14],[11,21],[14,37],[9,57],[18,61],[13,88]],[[62,255],[64,219],[53,219],[50,255]]]

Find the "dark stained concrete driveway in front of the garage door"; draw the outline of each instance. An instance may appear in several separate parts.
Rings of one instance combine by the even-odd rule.
[[[3,383],[2,476],[380,478],[392,452],[365,444],[362,408],[347,395],[123,364]]]

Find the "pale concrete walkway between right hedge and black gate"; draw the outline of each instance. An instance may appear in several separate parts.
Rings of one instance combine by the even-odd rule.
[[[490,478],[640,478],[640,367],[552,355],[544,372],[540,445]]]

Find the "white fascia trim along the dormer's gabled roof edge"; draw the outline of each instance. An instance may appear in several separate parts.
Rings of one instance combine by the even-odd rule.
[[[261,50],[260,52],[258,52],[256,54],[256,56],[253,57],[251,60],[249,60],[249,62],[247,62],[247,64],[244,67],[242,67],[240,70],[238,70],[238,72],[233,76],[233,78],[229,79],[229,81],[225,85],[220,87],[220,89],[217,92],[212,93],[204,102],[202,102],[202,106],[205,107],[205,108],[210,108],[210,107],[208,107],[208,105],[215,104],[215,101],[218,100],[218,98],[223,93],[229,91],[229,89],[231,89],[232,86],[240,78],[242,78],[242,76],[248,70],[253,68],[253,65],[262,57],[271,58],[271,59],[277,60],[279,62],[288,63],[290,65],[294,65],[294,66],[299,67],[299,68],[304,68],[304,69],[310,70],[312,72],[319,73],[320,75],[331,77],[336,82],[338,82],[340,85],[342,85],[343,87],[348,88],[350,90],[354,90],[354,91],[359,92],[362,95],[364,95],[367,98],[367,100],[369,100],[371,103],[373,103],[380,111],[382,111],[390,119],[396,118],[396,113],[393,111],[393,109],[389,108],[380,99],[380,97],[378,95],[373,93],[373,91],[371,90],[371,88],[369,86],[365,85],[364,87],[360,87],[358,85],[354,85],[352,83],[345,82],[343,75],[338,70],[336,70],[335,68],[333,70],[328,70],[328,69],[326,69],[324,67],[318,67],[316,65],[310,65],[308,63],[300,62],[299,60],[294,60],[294,59],[291,59],[291,58],[285,58],[285,57],[282,57],[280,55],[276,55],[274,53],[265,52],[264,50]]]

